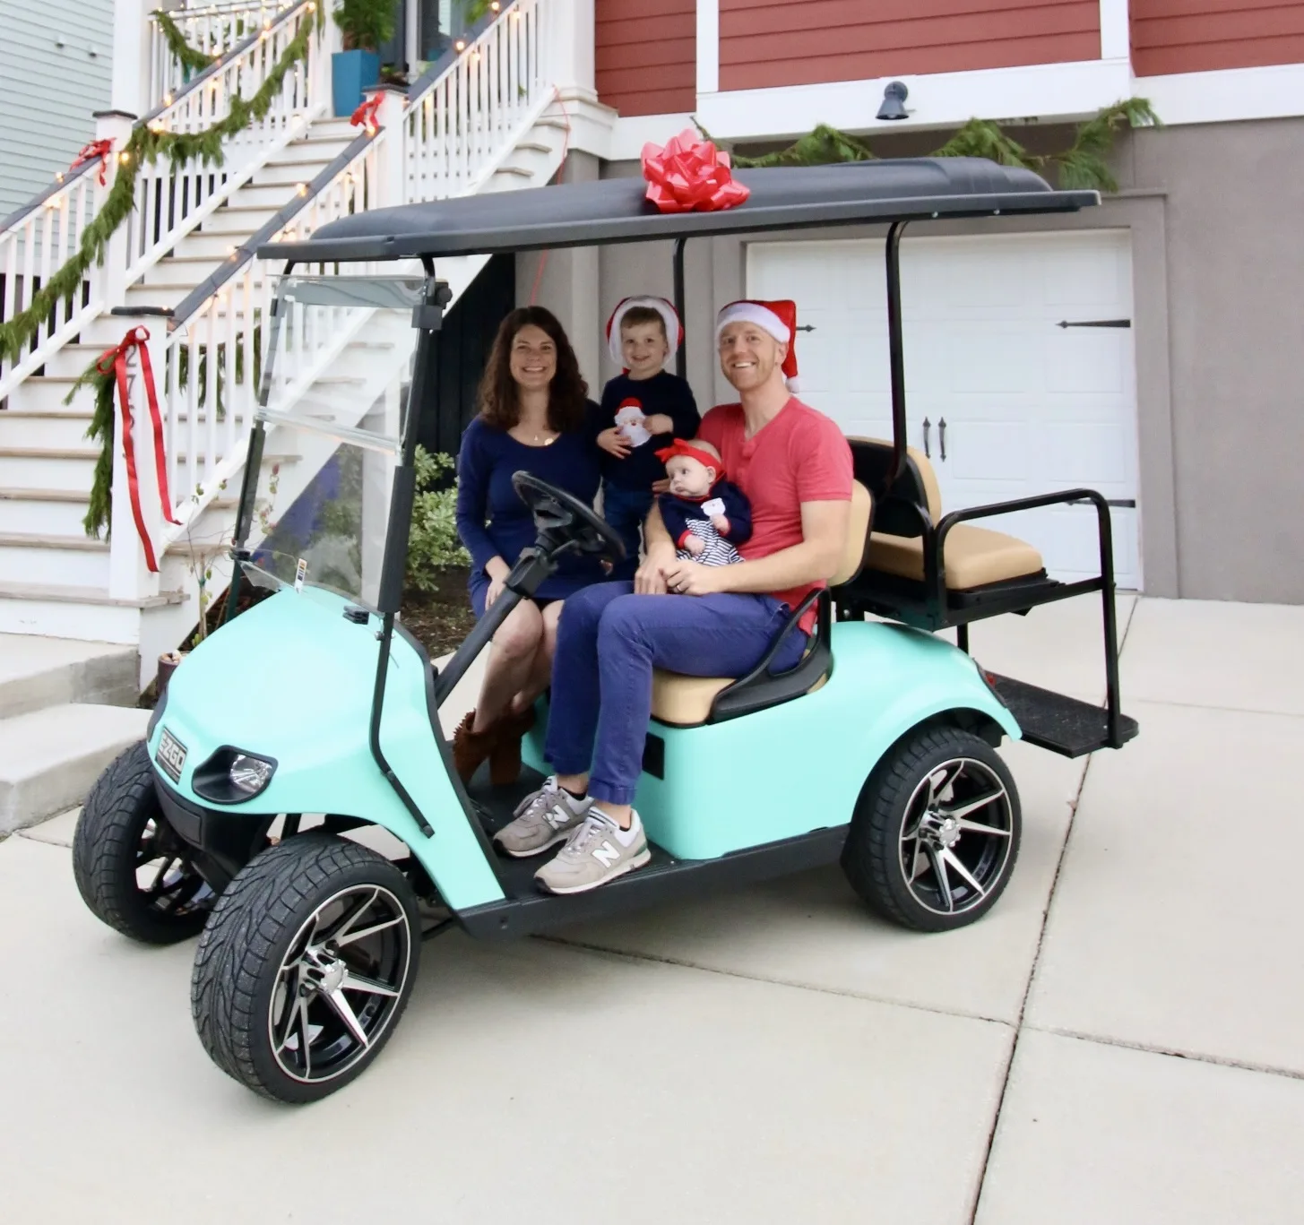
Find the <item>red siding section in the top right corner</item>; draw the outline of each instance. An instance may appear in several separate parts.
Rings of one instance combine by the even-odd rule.
[[[1300,0],[1132,0],[1138,77],[1304,63]]]

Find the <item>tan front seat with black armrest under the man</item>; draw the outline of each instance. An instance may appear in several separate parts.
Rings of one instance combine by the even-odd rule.
[[[850,583],[865,564],[870,538],[870,519],[874,502],[870,491],[859,482],[852,485],[852,517],[846,529],[846,543],[837,572],[829,580],[829,588]],[[805,693],[812,693],[828,679],[833,662],[831,642],[832,612],[829,588],[812,592],[789,618],[788,627],[797,622],[811,605],[819,606],[816,632],[801,661],[786,672],[771,675],[767,672],[771,658],[778,646],[767,654],[751,674],[737,679],[733,676],[683,676],[679,672],[664,672],[657,669],[652,674],[652,718],[675,727],[695,727],[699,723],[719,723],[739,714],[751,714],[765,706],[790,701]],[[782,636],[780,636],[782,637]]]

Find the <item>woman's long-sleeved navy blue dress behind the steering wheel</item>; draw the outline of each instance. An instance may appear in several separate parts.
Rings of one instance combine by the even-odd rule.
[[[458,454],[458,534],[471,554],[471,606],[484,616],[489,575],[485,566],[499,556],[515,564],[536,537],[535,520],[511,486],[515,472],[528,472],[592,506],[601,480],[595,442],[597,405],[589,403],[584,426],[559,434],[546,447],[516,442],[506,430],[480,417],[467,426]],[[565,599],[606,575],[596,556],[562,558],[557,573],[535,593],[539,599]]]

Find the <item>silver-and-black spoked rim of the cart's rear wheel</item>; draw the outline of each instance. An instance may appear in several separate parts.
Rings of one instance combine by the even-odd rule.
[[[944,761],[919,782],[901,824],[901,878],[938,915],[981,906],[1009,863],[1013,809],[991,766]]]

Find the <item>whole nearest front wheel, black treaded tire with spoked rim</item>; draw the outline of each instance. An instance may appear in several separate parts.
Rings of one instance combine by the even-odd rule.
[[[335,936],[349,937],[344,951]],[[214,907],[190,977],[194,1028],[214,1063],[256,1093],[317,1101],[379,1054],[407,1007],[420,950],[416,895],[387,859],[330,834],[289,838],[254,856]]]

